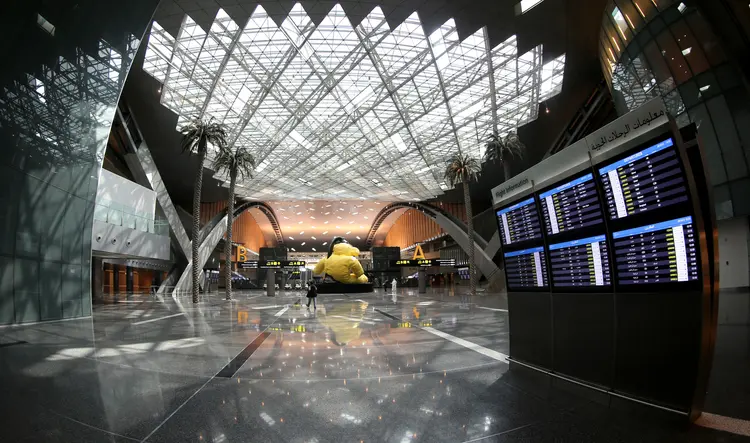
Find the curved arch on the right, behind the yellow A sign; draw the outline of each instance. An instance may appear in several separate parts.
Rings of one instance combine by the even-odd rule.
[[[370,232],[367,234],[366,244],[368,247],[372,246],[375,241],[375,234],[377,233],[380,225],[383,223],[386,217],[392,212],[402,209],[416,209],[421,211],[426,216],[430,217],[438,224],[448,235],[450,235],[461,249],[468,253],[469,251],[469,235],[466,233],[466,224],[461,220],[454,217],[452,214],[437,208],[435,206],[426,205],[424,203],[411,203],[411,202],[396,202],[391,203],[388,206],[380,210],[375,220],[372,222]],[[489,257],[485,252],[487,248],[487,240],[483,239],[479,234],[474,232],[474,256],[477,262],[477,269],[484,274],[488,281],[492,281],[497,277],[501,276],[500,269],[492,261],[492,257]]]

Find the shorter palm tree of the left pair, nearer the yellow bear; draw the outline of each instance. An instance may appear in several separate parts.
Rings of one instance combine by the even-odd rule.
[[[255,158],[247,149],[224,147],[214,159],[216,172],[229,174],[229,198],[227,199],[227,240],[224,242],[224,269],[227,300],[232,299],[232,224],[234,223],[234,189],[237,186],[237,176],[240,179],[252,177],[255,168]]]

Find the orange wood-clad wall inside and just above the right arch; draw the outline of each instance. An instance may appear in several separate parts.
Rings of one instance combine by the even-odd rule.
[[[463,205],[455,203],[435,203],[433,205],[462,221],[466,220]],[[443,234],[443,230],[434,220],[419,210],[409,209],[396,220],[388,231],[384,246],[398,246],[403,249],[441,234]]]

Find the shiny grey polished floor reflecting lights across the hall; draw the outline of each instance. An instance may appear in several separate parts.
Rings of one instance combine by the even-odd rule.
[[[501,295],[235,295],[0,329],[0,441],[750,440],[525,390]]]

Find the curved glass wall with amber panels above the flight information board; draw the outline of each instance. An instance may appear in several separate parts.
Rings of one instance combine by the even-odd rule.
[[[619,114],[662,97],[679,126],[697,125],[717,218],[750,214],[750,95],[700,8],[610,1],[600,61]]]

